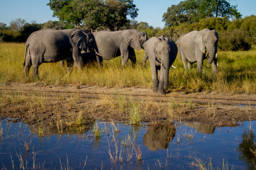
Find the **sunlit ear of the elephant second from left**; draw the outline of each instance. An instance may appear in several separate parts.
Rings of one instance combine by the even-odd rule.
[[[141,50],[141,44],[139,44],[139,36],[137,30],[127,29],[123,33],[123,40],[127,45],[130,45],[133,49]]]

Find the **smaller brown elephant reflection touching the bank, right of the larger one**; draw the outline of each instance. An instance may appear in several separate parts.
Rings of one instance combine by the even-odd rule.
[[[199,133],[212,134],[214,133],[215,126],[210,124],[203,124],[201,122],[183,122],[186,126],[196,129]]]

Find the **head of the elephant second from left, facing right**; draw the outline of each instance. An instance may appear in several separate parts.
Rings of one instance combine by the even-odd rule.
[[[141,46],[148,40],[148,37],[145,32],[136,29],[127,29],[123,32],[123,39],[131,48],[141,50]]]

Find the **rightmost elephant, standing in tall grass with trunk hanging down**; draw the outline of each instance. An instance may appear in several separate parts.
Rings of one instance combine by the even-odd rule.
[[[192,31],[179,37],[176,41],[179,56],[183,61],[185,70],[197,62],[197,73],[201,73],[203,61],[212,64],[213,73],[217,73],[217,43],[218,33],[215,30],[203,29]]]

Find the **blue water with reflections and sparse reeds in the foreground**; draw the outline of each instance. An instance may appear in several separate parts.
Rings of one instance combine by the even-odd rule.
[[[217,128],[199,122],[131,126],[95,122],[82,134],[1,121],[1,169],[255,169],[255,121]],[[27,146],[27,147],[26,147]],[[28,148],[28,149],[27,149]],[[211,164],[210,164],[211,163]]]

